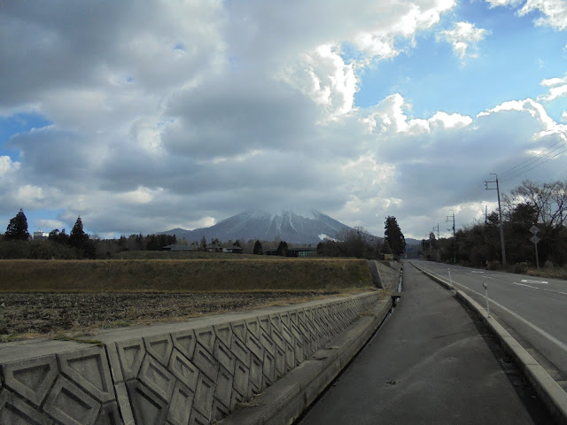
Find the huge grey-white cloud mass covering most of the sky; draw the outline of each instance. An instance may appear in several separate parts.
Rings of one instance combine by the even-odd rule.
[[[502,128],[522,138],[518,155],[557,129],[535,101],[476,117],[417,114],[398,90],[356,105],[364,70],[416,46],[454,4],[5,4],[0,113],[50,125],[2,146],[18,156],[0,156],[0,214],[61,212],[37,221],[46,231],[81,215],[106,235],[309,205],[378,235],[398,215],[417,236],[416,218],[454,207],[480,164],[509,155]],[[462,24],[443,39],[469,58],[487,33]]]

